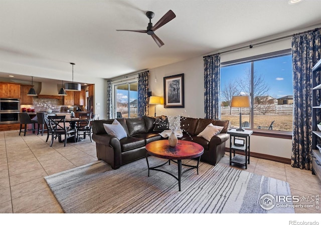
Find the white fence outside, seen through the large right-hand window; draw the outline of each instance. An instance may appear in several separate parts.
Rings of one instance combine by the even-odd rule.
[[[266,106],[266,105],[261,105]],[[293,104],[274,104],[268,105],[269,110],[266,114],[292,114],[293,113]],[[249,114],[249,108],[241,108],[242,114]],[[240,108],[232,108],[232,114],[239,114]],[[221,106],[221,114],[230,114],[230,106]],[[254,108],[254,114],[262,114],[257,107]]]

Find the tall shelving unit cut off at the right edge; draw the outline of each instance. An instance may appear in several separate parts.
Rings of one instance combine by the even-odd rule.
[[[316,174],[321,180],[321,165],[320,165],[320,152],[318,150],[317,140],[321,139],[321,130],[317,128],[317,116],[321,111],[321,102],[317,101],[317,98],[321,94],[321,83],[316,82],[316,72],[321,71],[321,59],[312,68],[312,174]],[[319,145],[318,145],[319,146]]]

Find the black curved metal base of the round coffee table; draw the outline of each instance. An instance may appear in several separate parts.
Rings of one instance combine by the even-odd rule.
[[[181,191],[181,179],[182,179],[182,174],[187,172],[188,170],[191,170],[191,169],[194,169],[196,168],[197,170],[197,174],[199,174],[199,164],[200,164],[200,159],[201,159],[201,156],[198,157],[198,160],[197,160],[197,165],[188,165],[188,164],[183,164],[182,163],[182,159],[177,159],[177,161],[174,161],[173,159],[169,159],[167,160],[166,162],[164,162],[163,164],[160,164],[160,165],[157,165],[157,166],[153,166],[153,167],[149,167],[149,163],[148,163],[148,154],[146,154],[146,162],[147,162],[147,167],[148,167],[148,176],[149,176],[149,170],[157,170],[157,171],[161,171],[161,172],[165,172],[171,176],[173,176],[175,179],[177,179],[179,181],[179,191]],[[171,161],[177,163],[178,165],[178,177],[176,175],[174,175],[173,173],[170,173],[166,170],[163,170],[163,169],[158,169],[158,167],[161,167],[167,163],[169,163],[169,165],[171,164]],[[182,165],[184,166],[188,166],[190,168],[188,169],[185,169],[183,172],[182,172]]]

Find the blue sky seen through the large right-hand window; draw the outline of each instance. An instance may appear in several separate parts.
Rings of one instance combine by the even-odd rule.
[[[247,62],[222,67],[221,89],[229,80],[244,76],[250,66],[251,63]],[[264,81],[270,86],[268,95],[274,98],[293,95],[291,55],[257,60],[254,62],[254,72],[264,77]]]

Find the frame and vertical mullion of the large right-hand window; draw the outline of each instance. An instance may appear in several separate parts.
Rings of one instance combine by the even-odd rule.
[[[230,60],[226,62],[221,62],[220,67],[225,67],[229,65],[235,65],[235,64],[240,64],[240,63],[246,63],[250,62],[251,63],[251,90],[253,90],[254,83],[253,83],[253,77],[254,77],[254,61],[257,60],[262,60],[262,59],[268,59],[268,58],[273,58],[273,57],[279,57],[279,56],[285,56],[285,55],[291,55],[292,50],[289,49],[284,49],[284,50],[279,50],[279,51],[273,51],[269,53],[264,53],[264,54],[259,54],[255,56],[250,56],[250,57],[245,57],[245,58],[240,58],[240,59],[235,59],[235,60]],[[251,102],[254,102],[254,96],[251,94]],[[292,138],[292,131],[285,131],[285,130],[268,130],[268,129],[258,129],[254,128],[254,107],[251,107],[250,109],[250,116],[251,116],[251,130],[253,130],[253,135],[258,135],[258,136],[269,136],[269,137],[277,137],[277,138],[284,138],[284,139],[291,139]]]

